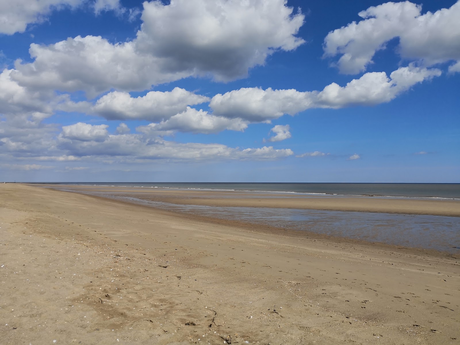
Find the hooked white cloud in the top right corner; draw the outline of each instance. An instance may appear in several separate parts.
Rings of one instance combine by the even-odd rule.
[[[342,73],[366,70],[376,51],[399,38],[398,52],[404,59],[424,66],[460,61],[460,2],[449,9],[421,15],[421,6],[409,1],[388,2],[359,12],[363,18],[331,31],[324,39],[326,56],[341,55]]]

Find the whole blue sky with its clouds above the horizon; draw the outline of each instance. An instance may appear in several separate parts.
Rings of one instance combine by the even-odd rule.
[[[0,182],[460,183],[460,1],[0,0]]]

